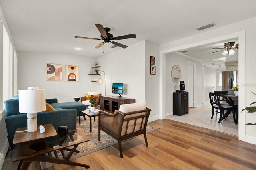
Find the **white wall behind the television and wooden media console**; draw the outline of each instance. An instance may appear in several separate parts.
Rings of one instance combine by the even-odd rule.
[[[112,83],[124,83],[123,97],[134,98],[136,103],[145,101],[145,41],[98,57],[97,61],[100,71],[106,73],[106,95],[112,95]],[[104,94],[104,84],[97,87]]]

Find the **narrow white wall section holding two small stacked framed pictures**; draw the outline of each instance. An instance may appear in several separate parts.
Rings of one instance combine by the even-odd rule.
[[[151,109],[150,118],[148,121],[159,119],[159,60],[158,60],[158,45],[152,42],[145,41],[145,98],[147,107]],[[156,57],[156,75],[150,75],[150,56]]]

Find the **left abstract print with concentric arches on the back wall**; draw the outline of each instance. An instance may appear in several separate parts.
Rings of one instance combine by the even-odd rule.
[[[62,64],[47,63],[46,67],[46,79],[48,81],[62,81]]]

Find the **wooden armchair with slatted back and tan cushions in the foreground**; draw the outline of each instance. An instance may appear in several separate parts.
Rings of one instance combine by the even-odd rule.
[[[118,140],[120,157],[123,158],[121,142],[144,134],[145,144],[148,147],[146,127],[151,109],[146,102],[120,105],[119,111],[114,114],[105,111],[99,112],[99,141],[100,130]]]

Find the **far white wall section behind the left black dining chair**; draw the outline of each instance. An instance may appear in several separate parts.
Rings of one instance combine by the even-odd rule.
[[[209,103],[209,92],[217,91],[217,71],[203,65],[203,104]],[[221,91],[221,90],[220,90]]]

